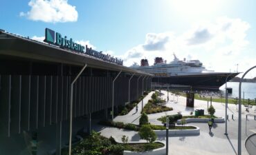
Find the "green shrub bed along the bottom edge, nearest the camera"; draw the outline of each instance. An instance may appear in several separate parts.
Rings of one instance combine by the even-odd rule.
[[[113,137],[106,138],[100,133],[92,132],[77,145],[73,145],[73,155],[122,155],[124,150],[146,152],[163,147],[163,143],[127,143],[128,137],[123,136],[122,142],[117,143]],[[68,148],[62,149],[62,154],[68,154]]]

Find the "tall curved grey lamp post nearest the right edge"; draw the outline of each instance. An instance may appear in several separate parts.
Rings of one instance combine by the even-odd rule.
[[[256,68],[256,65],[253,67]],[[241,77],[240,82],[239,82],[239,103],[238,103],[238,143],[237,143],[237,154],[241,155],[241,82],[244,79],[244,76],[246,76],[246,74],[248,72],[250,72],[250,70],[253,70],[253,68],[250,68],[249,70],[247,70],[244,75]]]

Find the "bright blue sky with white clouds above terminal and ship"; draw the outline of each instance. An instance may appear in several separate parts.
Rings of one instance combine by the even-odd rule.
[[[0,29],[43,41],[50,28],[126,66],[140,59],[152,65],[156,56],[170,63],[174,54],[216,72],[256,65],[254,0],[2,0],[1,6]],[[246,78],[255,76],[256,69]]]

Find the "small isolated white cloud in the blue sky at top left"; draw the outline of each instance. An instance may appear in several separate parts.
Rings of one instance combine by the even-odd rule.
[[[68,4],[68,0],[30,0],[28,6],[31,10],[20,12],[19,16],[48,23],[73,22],[78,18],[75,6]]]

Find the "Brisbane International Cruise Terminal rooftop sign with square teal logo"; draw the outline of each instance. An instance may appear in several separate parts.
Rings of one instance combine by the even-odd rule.
[[[56,38],[56,39],[55,39]],[[62,37],[62,34],[56,32],[54,30],[46,28],[45,31],[45,39],[44,42],[50,43],[53,45],[58,45],[61,48],[65,48],[68,50],[73,50],[75,52],[80,52],[84,54],[88,54],[90,56],[94,56],[98,59],[102,59],[104,61],[110,61],[112,63],[117,63],[118,65],[122,65],[123,61],[118,58],[114,58],[113,56],[109,54],[103,54],[102,52],[98,52],[96,50],[92,50],[91,48],[88,48],[87,45],[84,48],[84,45],[80,45],[78,43],[74,43],[72,39],[67,39],[65,36]]]

